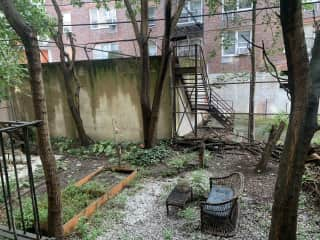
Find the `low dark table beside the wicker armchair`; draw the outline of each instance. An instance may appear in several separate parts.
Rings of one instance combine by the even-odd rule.
[[[189,189],[184,192],[179,191],[178,188],[175,187],[166,200],[167,215],[169,215],[169,206],[184,208],[186,206],[186,203],[192,200],[192,198],[192,187],[189,187]]]

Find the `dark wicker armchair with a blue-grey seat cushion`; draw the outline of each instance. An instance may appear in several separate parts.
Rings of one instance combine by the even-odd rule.
[[[235,235],[240,215],[239,196],[244,187],[242,173],[210,178],[207,201],[201,202],[201,231],[216,236]]]

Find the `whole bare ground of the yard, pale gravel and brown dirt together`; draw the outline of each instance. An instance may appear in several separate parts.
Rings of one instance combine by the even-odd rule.
[[[98,167],[107,164],[105,157],[91,157],[80,159],[76,156],[67,156],[59,161],[59,177],[62,187],[76,182],[84,176],[94,172]],[[192,240],[192,239],[223,239],[200,231],[199,202],[194,201],[187,206],[188,216],[181,214],[183,211],[172,211],[166,214],[165,200],[174,188],[179,177],[190,179],[197,160],[181,171],[179,174],[163,177],[161,172],[168,166],[162,162],[156,166],[140,169],[137,181],[139,187],[127,188],[114,200],[126,199],[124,206],[114,208],[106,204],[98,211],[102,221],[95,228],[99,229],[97,237],[91,238],[90,231],[79,237],[71,235],[68,240]],[[271,220],[271,207],[273,189],[276,180],[278,163],[270,161],[268,171],[257,174],[254,171],[257,158],[246,151],[228,150],[219,154],[211,153],[204,170],[206,176],[223,176],[231,172],[242,172],[245,176],[245,188],[241,196],[241,215],[239,227],[235,237],[230,239],[262,240],[267,239]],[[108,181],[111,184],[118,181],[121,176],[102,174],[97,180]],[[37,192],[44,188],[43,177],[37,179]],[[114,208],[114,209],[113,209]],[[174,209],[173,209],[174,210]],[[117,219],[110,214],[116,211]],[[96,215],[89,219],[95,221]],[[320,240],[320,208],[302,192],[299,204],[299,240]]]

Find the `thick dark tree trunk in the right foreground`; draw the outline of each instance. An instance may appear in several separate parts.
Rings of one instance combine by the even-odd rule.
[[[280,15],[292,104],[275,187],[269,239],[295,240],[304,163],[311,138],[318,127],[319,96],[315,92],[315,84],[319,83],[319,75],[313,75],[313,62],[316,62],[314,59],[316,44],[313,49],[311,74],[309,74],[301,1],[281,0]],[[317,39],[315,43],[317,43]],[[319,47],[317,50],[319,51]]]

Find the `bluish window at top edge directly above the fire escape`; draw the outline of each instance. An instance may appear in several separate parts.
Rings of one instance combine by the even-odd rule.
[[[202,0],[187,0],[178,24],[202,23]]]

